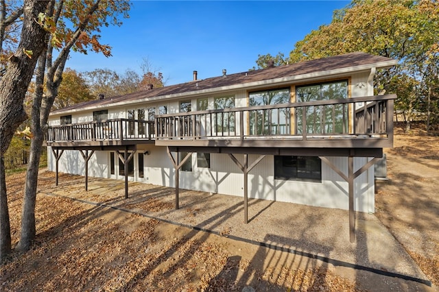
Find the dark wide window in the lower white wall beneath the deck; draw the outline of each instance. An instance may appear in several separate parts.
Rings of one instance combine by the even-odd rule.
[[[322,182],[322,160],[316,156],[274,156],[274,179]]]

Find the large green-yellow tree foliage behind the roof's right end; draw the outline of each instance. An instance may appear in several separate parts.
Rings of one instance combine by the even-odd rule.
[[[377,88],[398,91],[396,110],[403,112],[407,130],[416,110],[432,112],[430,120],[437,121],[438,1],[354,0],[335,11],[329,25],[297,42],[289,62],[354,51],[400,60],[394,69],[377,73]]]

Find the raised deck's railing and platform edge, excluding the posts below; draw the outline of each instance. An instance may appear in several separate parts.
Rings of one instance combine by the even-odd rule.
[[[227,108],[56,125],[47,146],[383,148],[393,145],[396,95]]]

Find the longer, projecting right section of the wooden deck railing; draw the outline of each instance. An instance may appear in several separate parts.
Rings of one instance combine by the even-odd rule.
[[[396,95],[161,114],[156,139],[387,137]]]

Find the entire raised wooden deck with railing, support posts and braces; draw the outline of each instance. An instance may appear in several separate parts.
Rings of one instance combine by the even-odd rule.
[[[331,99],[158,115],[155,121],[114,119],[49,127],[46,143],[58,161],[64,149],[77,149],[85,161],[95,150],[117,151],[123,165],[142,145],[167,148],[175,168],[176,209],[179,170],[193,152],[228,154],[244,174],[244,222],[248,222],[248,172],[265,155],[318,156],[348,182],[350,241],[355,241],[354,180],[393,147],[393,108],[396,95]],[[130,151],[130,152],[129,152]],[[186,152],[182,160],[171,152]],[[244,162],[235,154],[244,154]],[[251,164],[248,154],[259,154]],[[348,173],[327,156],[348,158]],[[356,156],[369,157],[354,169]],[[128,175],[125,175],[128,197]]]

